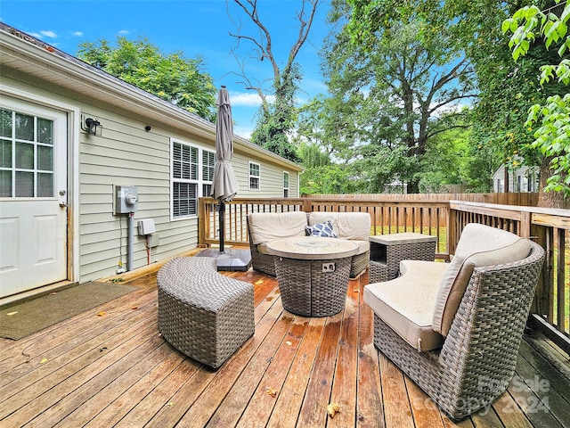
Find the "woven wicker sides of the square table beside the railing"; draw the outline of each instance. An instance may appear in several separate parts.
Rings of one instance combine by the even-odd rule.
[[[383,251],[375,251],[381,244],[371,242],[370,283],[383,283],[398,276],[400,261],[436,259],[436,243],[403,243],[387,245]],[[385,260],[379,260],[382,253]]]

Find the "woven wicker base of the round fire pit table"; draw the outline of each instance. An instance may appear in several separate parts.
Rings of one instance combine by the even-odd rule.
[[[329,317],[345,308],[351,258],[300,260],[275,258],[283,308],[304,317]],[[322,272],[322,264],[335,264]]]

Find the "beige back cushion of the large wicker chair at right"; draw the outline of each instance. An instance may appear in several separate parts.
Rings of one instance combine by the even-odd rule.
[[[530,241],[505,230],[475,223],[465,226],[455,257],[440,284],[434,310],[434,330],[444,336],[449,333],[475,268],[524,259],[530,250]]]

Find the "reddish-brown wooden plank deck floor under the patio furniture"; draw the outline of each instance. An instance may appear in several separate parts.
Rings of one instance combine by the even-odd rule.
[[[536,349],[557,353],[548,342],[525,337],[509,391],[456,425],[372,345],[367,274],[350,282],[344,312],[324,318],[283,310],[271,277],[226,275],[255,284],[256,333],[224,366],[208,369],[165,342],[156,275],[143,276],[136,292],[0,339],[0,426],[570,426],[570,363],[543,358]]]

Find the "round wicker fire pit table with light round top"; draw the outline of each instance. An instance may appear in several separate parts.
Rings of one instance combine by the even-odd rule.
[[[355,243],[344,239],[297,237],[267,243],[283,308],[303,317],[330,317],[346,303]]]

